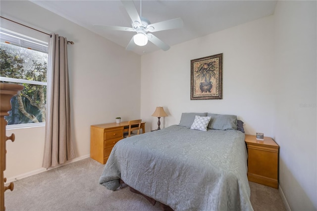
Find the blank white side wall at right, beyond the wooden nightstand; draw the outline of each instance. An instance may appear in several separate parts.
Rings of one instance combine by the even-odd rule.
[[[317,1],[274,12],[274,138],[279,183],[293,211],[317,210]]]

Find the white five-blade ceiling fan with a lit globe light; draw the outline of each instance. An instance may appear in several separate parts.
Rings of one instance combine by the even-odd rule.
[[[140,15],[133,3],[133,0],[121,0],[124,5],[127,13],[129,14],[132,22],[131,27],[124,26],[101,26],[95,25],[99,27],[103,27],[106,30],[117,30],[117,31],[127,31],[127,32],[136,32],[129,42],[126,50],[132,51],[136,45],[145,46],[148,43],[148,40],[154,45],[158,46],[163,51],[167,51],[170,47],[161,41],[159,38],[154,36],[149,32],[158,32],[168,29],[176,29],[183,27],[183,20],[181,18],[175,18],[170,20],[161,21],[158,23],[151,24],[150,21],[142,17],[142,1],[140,0]]]

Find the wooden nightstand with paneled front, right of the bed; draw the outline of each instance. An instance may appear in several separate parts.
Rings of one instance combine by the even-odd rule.
[[[259,141],[256,136],[246,135],[248,148],[248,179],[278,189],[279,146],[269,137]]]

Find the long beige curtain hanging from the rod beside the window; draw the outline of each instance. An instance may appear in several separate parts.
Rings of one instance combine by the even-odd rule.
[[[52,34],[49,43],[45,146],[42,166],[75,157],[70,134],[67,40]]]

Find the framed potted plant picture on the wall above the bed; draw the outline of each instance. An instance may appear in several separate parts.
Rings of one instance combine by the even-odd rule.
[[[222,99],[222,53],[191,60],[190,99]]]

